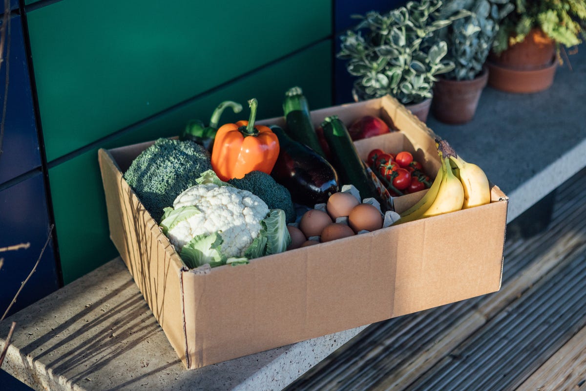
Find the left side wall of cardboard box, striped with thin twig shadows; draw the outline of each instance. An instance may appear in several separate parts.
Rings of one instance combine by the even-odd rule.
[[[136,151],[152,142],[132,148]],[[114,154],[122,148],[114,150]],[[138,152],[134,152],[136,156]],[[118,153],[118,155],[120,155]],[[110,239],[179,358],[189,367],[180,270],[183,263],[122,176],[110,151],[98,150]],[[128,161],[131,161],[129,158]],[[122,164],[125,164],[122,161]],[[126,162],[130,165],[130,162]]]

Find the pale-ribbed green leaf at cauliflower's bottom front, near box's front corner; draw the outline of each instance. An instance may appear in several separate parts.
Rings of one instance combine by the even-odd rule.
[[[217,232],[197,235],[183,246],[179,256],[189,268],[200,267],[206,263],[209,263],[210,267],[223,265],[226,263],[226,256],[221,251],[223,241]]]

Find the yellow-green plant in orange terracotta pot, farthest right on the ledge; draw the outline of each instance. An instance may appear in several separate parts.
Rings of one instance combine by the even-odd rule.
[[[586,39],[584,0],[515,0],[500,23],[487,65],[490,86],[513,93],[548,89],[560,50]],[[556,61],[556,58],[558,61]]]

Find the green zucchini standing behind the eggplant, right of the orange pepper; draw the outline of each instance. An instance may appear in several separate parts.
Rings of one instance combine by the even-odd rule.
[[[314,125],[311,122],[309,105],[301,88],[292,87],[285,93],[283,111],[285,121],[287,121],[287,134],[289,137],[307,145],[325,159],[326,155],[321,144],[319,144],[318,135],[315,133]]]

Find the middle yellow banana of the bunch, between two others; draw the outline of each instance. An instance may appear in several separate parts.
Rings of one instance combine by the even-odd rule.
[[[449,158],[442,157],[442,176],[440,189],[430,208],[425,210],[421,217],[442,215],[443,213],[455,212],[462,209],[464,205],[464,188],[462,183],[452,172],[449,165]],[[462,174],[462,172],[460,172]]]

